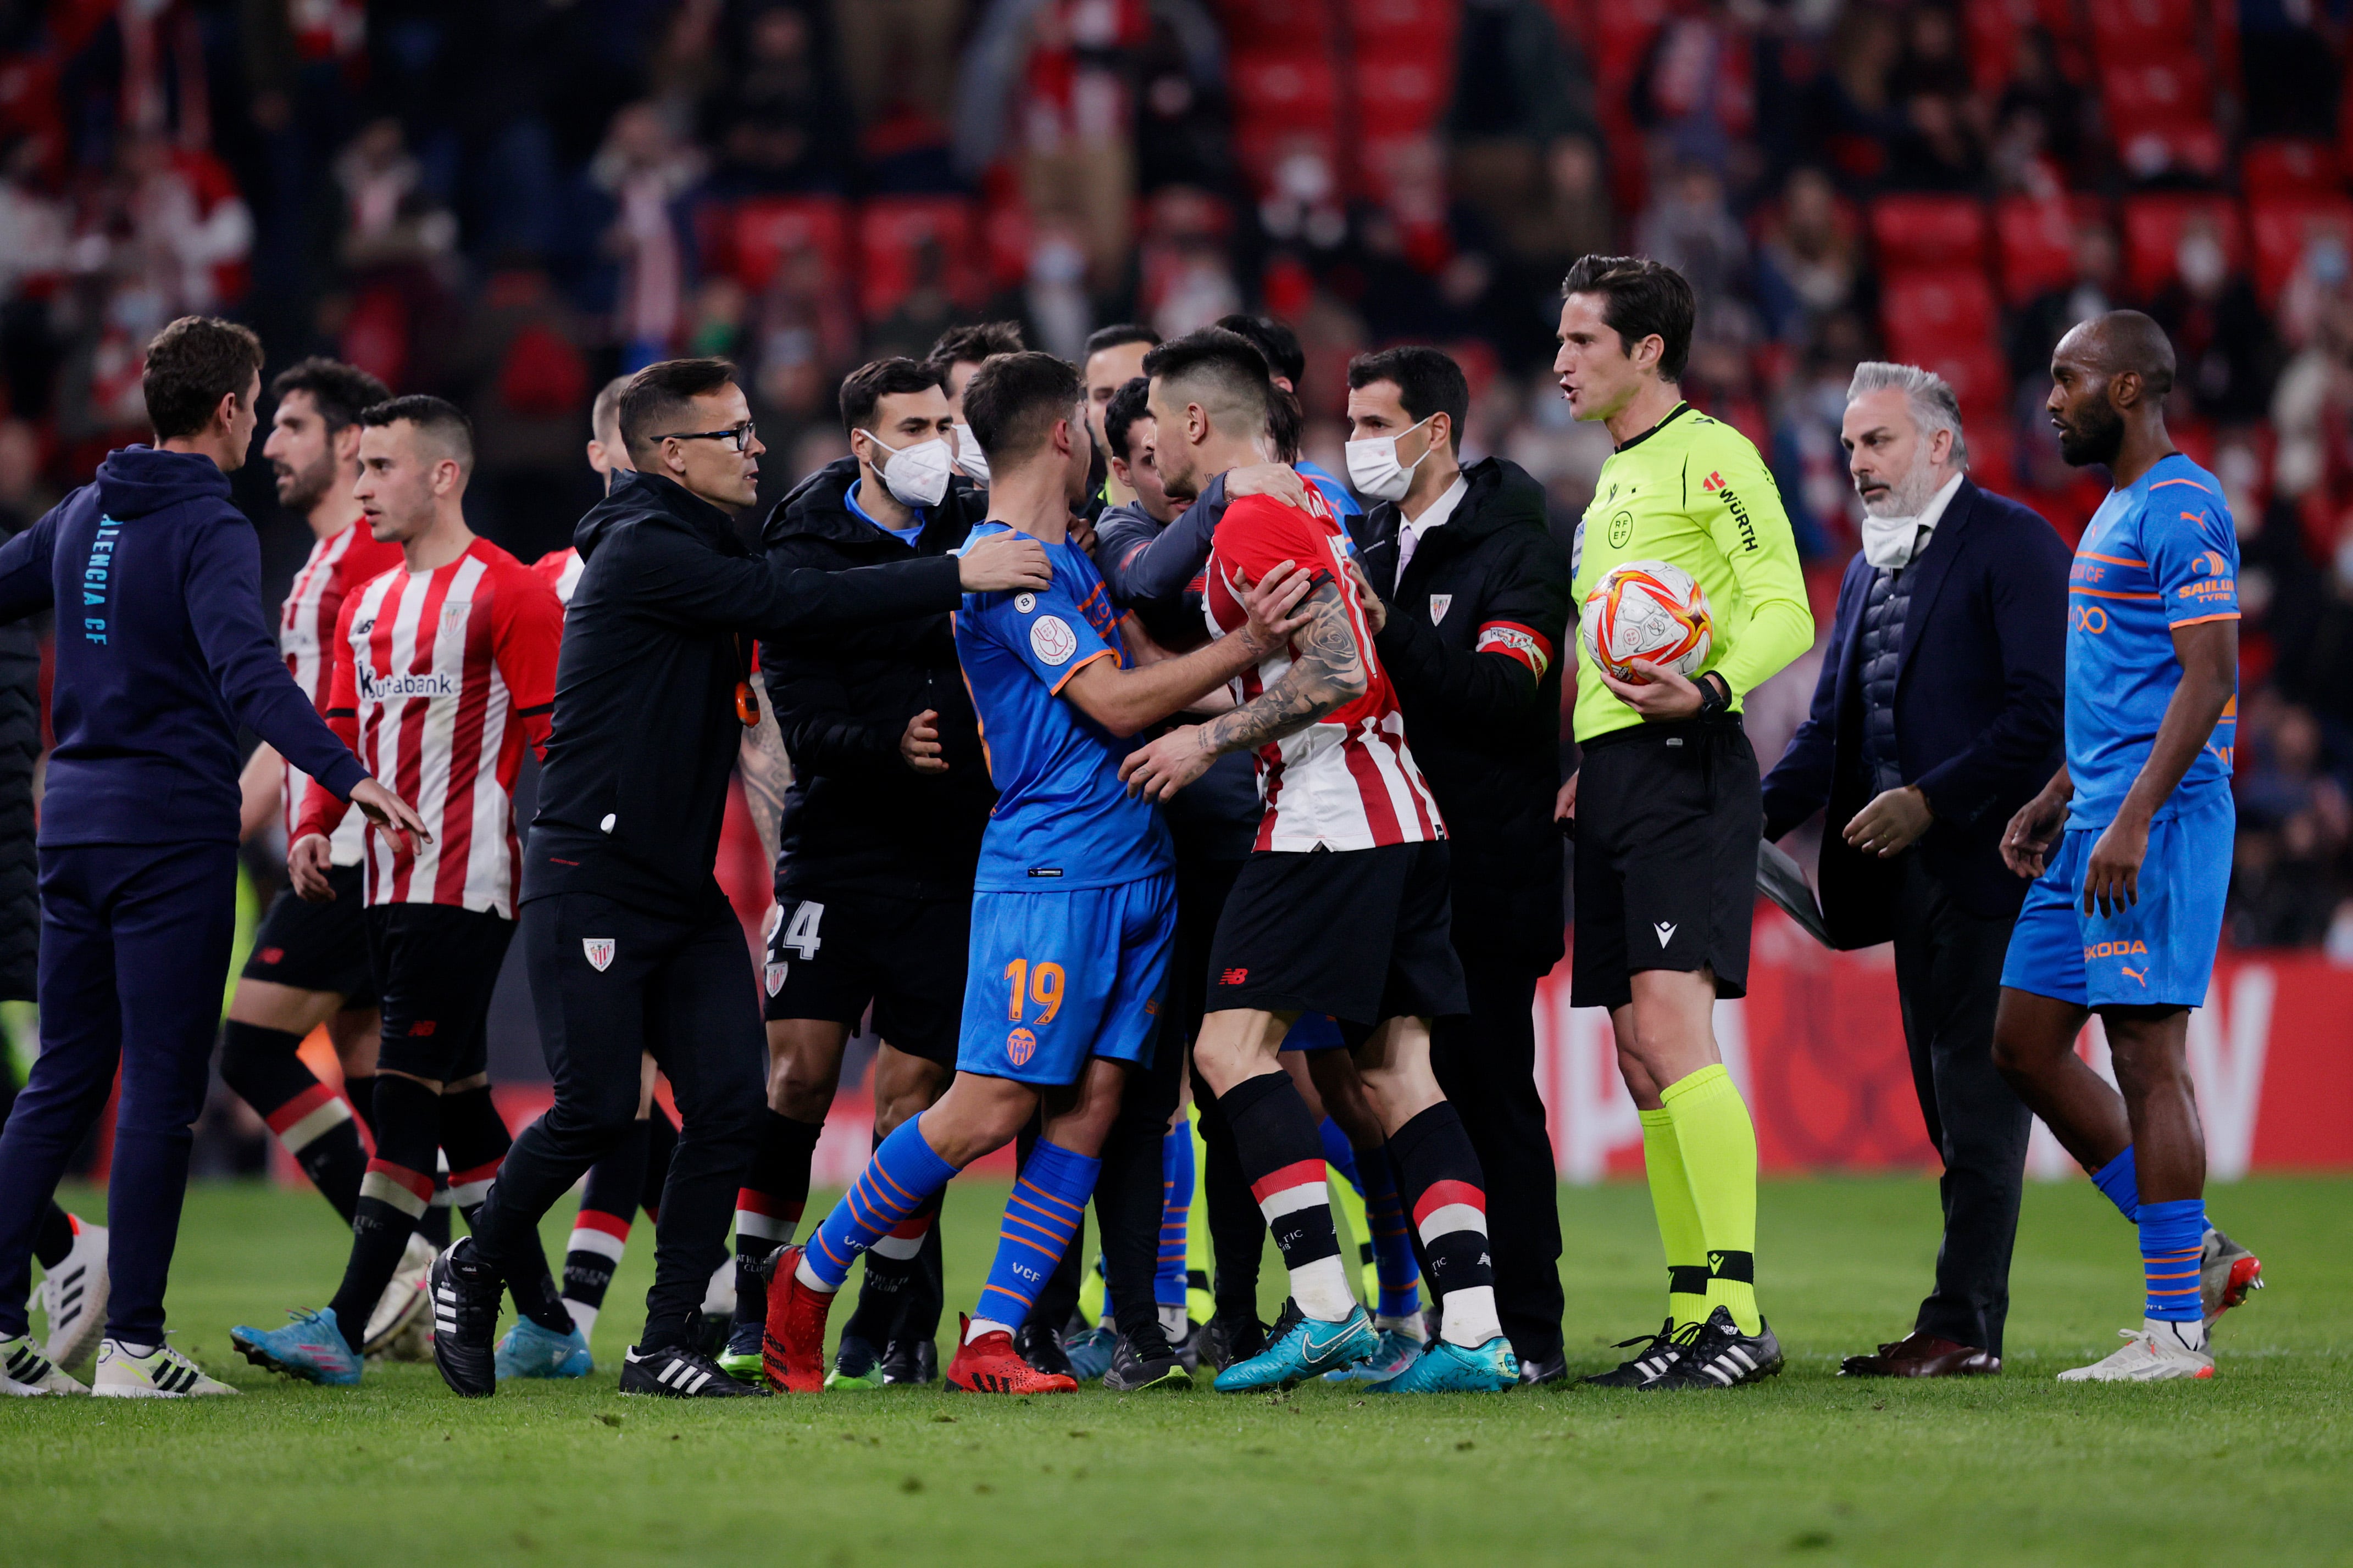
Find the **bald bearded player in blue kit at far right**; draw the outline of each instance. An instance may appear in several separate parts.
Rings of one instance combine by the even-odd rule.
[[[2188,1009],[2207,999],[2231,884],[2238,534],[2221,480],[2174,449],[2174,348],[2111,310],[2052,350],[2059,456],[2104,463],[2068,574],[2066,762],[2002,835],[2035,877],[2009,936],[1993,1060],[2141,1232],[2148,1300],[2125,1345],[2061,1382],[2212,1378],[2212,1319],[2264,1265],[2205,1218]],[[2108,1032],[2115,1084],[2078,1056]],[[2205,1279],[2202,1279],[2205,1276]]]

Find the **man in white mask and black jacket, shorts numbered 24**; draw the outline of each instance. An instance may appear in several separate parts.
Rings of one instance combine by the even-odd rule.
[[[847,571],[941,557],[988,512],[955,477],[936,364],[875,360],[840,390],[847,458],[769,512],[760,543],[779,571]],[[736,1197],[736,1316],[720,1356],[760,1380],[767,1255],[793,1241],[809,1159],[842,1077],[842,1048],[873,1006],[875,1138],[955,1077],[972,938],[972,877],[995,790],[946,614],[798,642],[765,642],[776,731],[793,759],[776,853],[767,994],[767,1119]],[[866,1253],[859,1309],[835,1378],[932,1382],[939,1328],[936,1208]]]

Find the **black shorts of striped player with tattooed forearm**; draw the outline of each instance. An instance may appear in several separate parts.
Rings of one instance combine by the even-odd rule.
[[[1207,1011],[1388,1018],[1468,1013],[1447,846],[1257,851],[1209,943]]]

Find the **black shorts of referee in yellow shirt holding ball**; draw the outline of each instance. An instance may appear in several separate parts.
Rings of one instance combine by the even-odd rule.
[[[1626,1006],[1642,969],[1713,969],[1718,997],[1746,997],[1762,832],[1758,755],[1739,719],[1642,724],[1586,745],[1569,1006]]]

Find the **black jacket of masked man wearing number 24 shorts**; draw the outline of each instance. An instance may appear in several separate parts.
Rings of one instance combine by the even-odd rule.
[[[939,557],[988,512],[988,491],[955,477],[911,550],[849,510],[856,482],[856,458],[835,458],[795,484],[760,531],[769,567],[845,571]],[[793,759],[776,893],[969,898],[998,792],[948,616],[762,639],[760,670]],[[918,773],[899,755],[906,722],[925,708],[939,712],[946,773]]]

